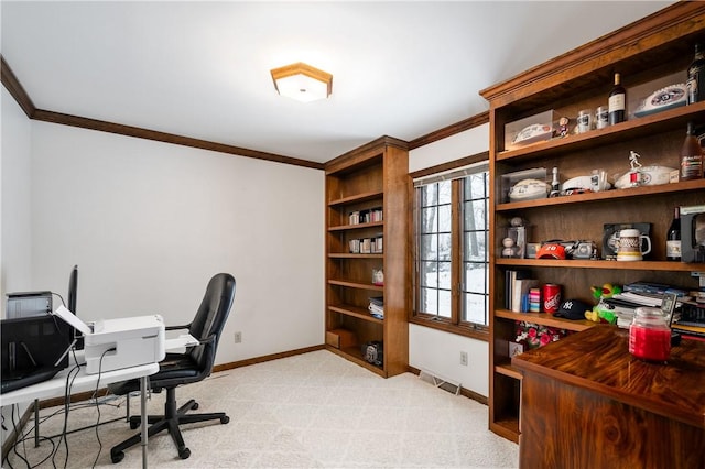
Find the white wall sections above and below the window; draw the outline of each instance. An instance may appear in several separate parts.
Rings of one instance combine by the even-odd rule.
[[[409,172],[486,152],[489,124],[476,127],[409,153]],[[468,366],[460,364],[460,352]],[[489,343],[415,324],[409,325],[409,364],[435,372],[484,396],[489,395]]]

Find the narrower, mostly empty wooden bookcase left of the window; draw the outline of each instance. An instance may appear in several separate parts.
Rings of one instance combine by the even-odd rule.
[[[380,138],[326,163],[325,330],[345,329],[359,343],[382,342],[381,367],[362,359],[360,347],[329,350],[381,377],[409,368],[408,312],[411,304],[409,249],[409,151],[406,144]],[[350,212],[382,210],[383,221],[350,225]],[[365,218],[364,218],[365,219]],[[383,252],[350,253],[351,240],[377,238]],[[371,283],[377,270],[384,285]],[[383,297],[384,319],[370,314],[370,297]]]

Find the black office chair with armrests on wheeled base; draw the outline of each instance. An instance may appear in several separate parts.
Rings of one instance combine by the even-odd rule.
[[[149,415],[148,436],[167,429],[172,439],[178,448],[178,457],[186,459],[191,456],[191,450],[186,448],[184,438],[178,426],[195,422],[219,419],[221,424],[230,421],[225,413],[210,414],[187,414],[191,410],[198,408],[198,403],[193,399],[176,408],[176,388],[181,384],[198,382],[210,374],[218,348],[218,339],[225,321],[230,313],[232,299],[235,297],[235,279],[227,273],[215,275],[208,286],[206,294],[196,313],[196,317],[191,324],[185,326],[170,326],[166,330],[188,329],[188,334],[200,341],[200,345],[191,347],[185,353],[166,353],[164,360],[160,362],[160,370],[150,377],[150,388],[153,392],[166,390],[164,402],[164,415]],[[139,380],[129,380],[110,384],[108,389],[118,395],[124,395],[140,389]],[[130,428],[135,429],[141,424],[140,416],[130,417]],[[120,462],[124,458],[124,449],[141,443],[141,435],[138,433],[131,438],[112,447],[110,458],[112,462]]]

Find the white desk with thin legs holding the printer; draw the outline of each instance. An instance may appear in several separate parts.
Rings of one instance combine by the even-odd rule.
[[[74,363],[73,353],[69,356],[69,362]],[[159,371],[159,363],[142,364],[139,367],[124,368],[122,370],[107,371],[100,373],[100,382],[98,374],[86,374],[85,360],[83,350],[76,352],[76,358],[82,366],[80,371],[73,380],[70,393],[93,391],[96,386],[105,386],[106,384],[119,381],[140,379],[140,412],[142,414],[142,467],[147,468],[147,377]],[[53,379],[41,383],[32,384],[26,388],[0,394],[0,406],[18,404],[21,402],[31,402],[34,400],[61,397],[66,391],[66,377],[74,368],[69,366],[65,370],[58,372]],[[37,423],[35,423],[36,425]]]

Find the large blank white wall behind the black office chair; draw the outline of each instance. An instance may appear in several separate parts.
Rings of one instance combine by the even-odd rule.
[[[324,341],[324,173],[32,122],[32,284],[85,320],[186,324],[218,272],[236,277],[216,363]],[[242,343],[234,342],[235,331]]]

